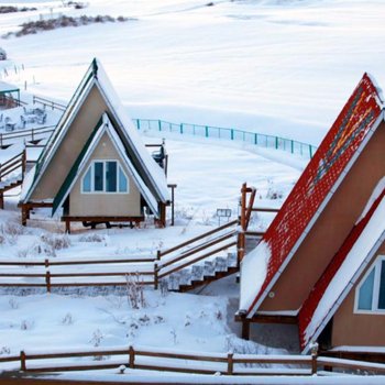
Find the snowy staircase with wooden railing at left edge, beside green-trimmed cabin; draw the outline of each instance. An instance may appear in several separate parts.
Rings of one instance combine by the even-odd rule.
[[[21,186],[25,173],[25,150],[0,164],[0,209],[4,208],[4,193]],[[16,172],[20,172],[16,174]]]

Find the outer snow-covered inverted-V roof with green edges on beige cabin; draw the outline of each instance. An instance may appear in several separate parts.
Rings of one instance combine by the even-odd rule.
[[[114,92],[101,64],[97,59],[94,59],[92,64],[88,68],[55,131],[51,135],[47,145],[37,160],[34,183],[32,184],[24,200],[28,201],[30,199],[44,172],[50,166],[56,148],[59,147],[70,128],[72,122],[76,118],[84,101],[87,99],[87,96],[95,86],[98,88],[110,110],[110,119],[116,123],[114,125],[117,128],[117,132],[124,143],[124,146],[131,150],[130,157],[131,162],[135,166],[135,169],[138,169],[141,178],[145,182],[152,195],[154,195],[158,201],[164,204],[167,202],[169,200],[169,195],[165,175],[146,151],[138,130],[133,125],[131,119],[128,117],[127,111]]]

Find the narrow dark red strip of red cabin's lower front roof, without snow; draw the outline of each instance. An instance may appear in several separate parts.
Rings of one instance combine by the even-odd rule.
[[[306,329],[311,322],[315,311],[318,308],[319,301],[322,299],[324,292],[327,290],[334,275],[337,274],[337,272],[340,270],[341,265],[345,261],[354,243],[361,237],[362,232],[364,231],[366,224],[369,223],[370,219],[372,218],[374,211],[377,209],[384,196],[385,196],[385,189],[383,190],[381,196],[373,202],[366,216],[356,226],[354,226],[354,228],[352,229],[352,231],[343,242],[341,249],[338,251],[338,253],[329,263],[328,267],[326,268],[321,277],[318,279],[314,289],[309,294],[309,297],[305,300],[298,315],[299,342],[300,342],[301,350],[304,350],[306,344],[308,343],[308,340],[306,340]],[[330,310],[331,308],[327,309],[324,317],[328,316]]]

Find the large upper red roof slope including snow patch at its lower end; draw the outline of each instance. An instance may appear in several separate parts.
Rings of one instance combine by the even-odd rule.
[[[365,74],[264,234],[262,246],[244,257],[240,309],[246,310],[248,317],[253,316],[266,297],[346,174],[351,161],[356,158],[360,146],[366,144],[383,119],[378,92]],[[270,255],[265,258],[265,277],[256,283],[253,274],[257,273],[243,266],[250,265],[250,257],[258,256],[258,248],[268,250]]]

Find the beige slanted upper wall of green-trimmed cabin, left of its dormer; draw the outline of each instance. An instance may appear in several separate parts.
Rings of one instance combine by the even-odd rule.
[[[30,200],[53,199],[56,196],[100,117],[107,110],[99,90],[94,86]]]

